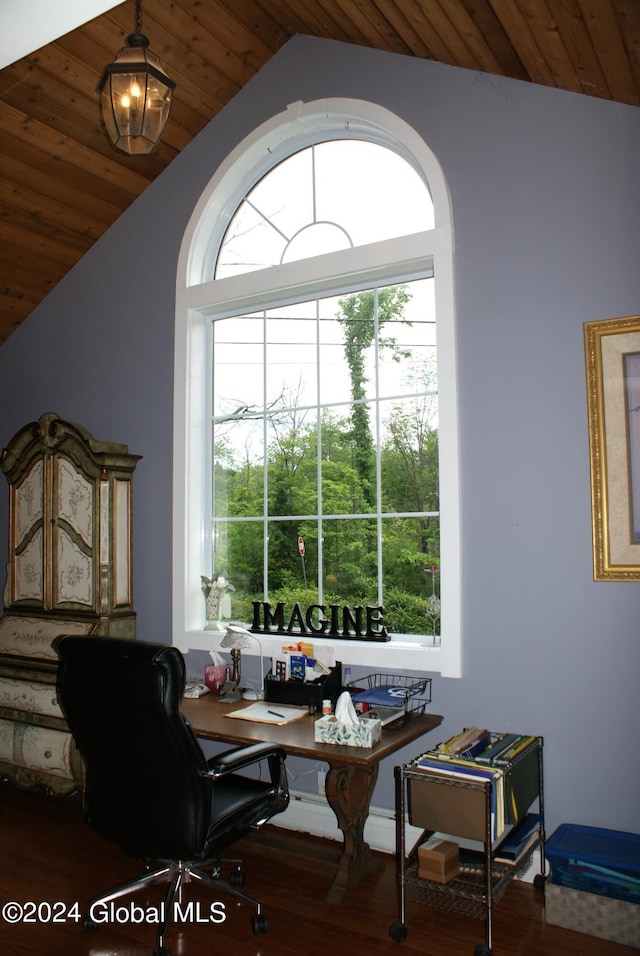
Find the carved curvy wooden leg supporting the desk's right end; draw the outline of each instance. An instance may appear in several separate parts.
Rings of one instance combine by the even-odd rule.
[[[364,840],[364,825],[377,778],[377,763],[369,768],[329,765],[325,793],[342,830],[344,846],[327,903],[342,903],[363,877],[381,866]]]

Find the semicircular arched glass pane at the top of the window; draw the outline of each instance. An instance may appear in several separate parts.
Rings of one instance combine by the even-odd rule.
[[[215,278],[432,228],[429,191],[398,153],[361,139],[314,143],[279,162],[244,197]]]

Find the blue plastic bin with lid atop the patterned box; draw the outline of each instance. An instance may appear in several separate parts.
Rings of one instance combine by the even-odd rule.
[[[640,835],[563,823],[545,853],[552,883],[640,903]]]

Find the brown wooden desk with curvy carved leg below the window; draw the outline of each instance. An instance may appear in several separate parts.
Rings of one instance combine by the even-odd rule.
[[[422,714],[397,729],[386,728],[379,744],[370,750],[361,747],[336,747],[319,744],[313,739],[317,718],[304,716],[291,724],[263,724],[226,717],[232,710],[248,706],[239,701],[221,704],[206,694],[198,699],[185,699],[182,712],[198,737],[222,741],[236,746],[272,740],[282,744],[287,753],[329,764],[325,793],[336,815],[344,843],[328,903],[339,904],[376,868],[376,861],[364,839],[364,826],[369,815],[371,797],[378,778],[378,767],[384,757],[400,750],[442,723],[439,714]]]

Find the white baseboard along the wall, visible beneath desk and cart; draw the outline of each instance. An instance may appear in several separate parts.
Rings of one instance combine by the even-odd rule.
[[[342,833],[325,797],[294,790],[290,791],[290,796],[291,801],[284,813],[279,813],[271,821],[273,826],[283,827],[286,830],[299,830],[301,833],[324,837],[325,840],[342,842]],[[412,847],[421,834],[422,830],[407,823],[405,826],[407,848]],[[371,807],[364,828],[364,838],[372,850],[395,853],[396,823],[393,810]],[[531,866],[520,879],[533,883],[533,878],[539,871],[538,862],[537,855],[534,855]]]

